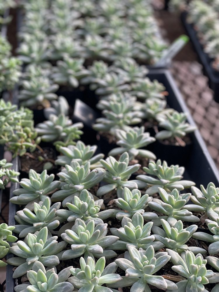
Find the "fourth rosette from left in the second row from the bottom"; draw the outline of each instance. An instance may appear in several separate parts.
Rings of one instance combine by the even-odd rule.
[[[187,246],[187,241],[192,237],[194,232],[197,230],[197,225],[190,225],[183,228],[183,222],[181,220],[177,221],[173,227],[164,219],[161,219],[160,228],[158,226],[152,227],[152,232],[155,237],[155,241],[160,241],[165,247],[170,248],[177,253],[182,253],[183,251],[192,251],[193,253],[206,253],[206,250],[196,246]]]

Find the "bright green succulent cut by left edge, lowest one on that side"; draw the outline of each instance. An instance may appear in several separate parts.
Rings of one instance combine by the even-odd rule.
[[[7,264],[1,260],[8,253],[10,248],[9,242],[15,242],[17,237],[12,235],[12,231],[15,229],[15,226],[8,226],[6,223],[0,224],[0,267],[4,267]]]

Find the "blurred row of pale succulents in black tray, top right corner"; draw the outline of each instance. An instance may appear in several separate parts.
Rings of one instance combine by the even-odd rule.
[[[178,1],[172,0],[170,8],[180,8],[183,24],[204,66],[204,73],[209,77],[209,85],[214,90],[218,101],[218,1]]]

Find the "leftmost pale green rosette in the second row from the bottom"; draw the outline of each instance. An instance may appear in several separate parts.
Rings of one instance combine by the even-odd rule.
[[[58,243],[58,236],[48,238],[47,227],[42,228],[37,234],[29,233],[25,241],[19,240],[9,251],[18,257],[9,258],[7,263],[18,266],[13,273],[13,278],[21,277],[32,270],[33,264],[40,261],[46,267],[59,264],[57,254],[67,245],[65,241]]]

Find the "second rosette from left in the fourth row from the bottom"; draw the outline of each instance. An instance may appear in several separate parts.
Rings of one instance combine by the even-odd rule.
[[[95,168],[90,170],[90,163],[80,165],[77,161],[72,161],[70,165],[65,166],[58,176],[61,181],[61,190],[52,194],[52,201],[62,201],[62,206],[66,207],[66,203],[72,201],[76,192],[88,190],[99,183],[105,175],[103,169]]]

